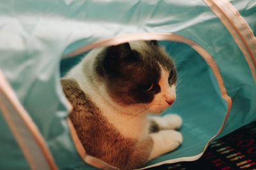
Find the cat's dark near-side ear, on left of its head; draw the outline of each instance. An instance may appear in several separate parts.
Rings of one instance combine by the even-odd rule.
[[[109,46],[107,49],[107,57],[109,60],[120,60],[128,57],[132,53],[129,43]]]

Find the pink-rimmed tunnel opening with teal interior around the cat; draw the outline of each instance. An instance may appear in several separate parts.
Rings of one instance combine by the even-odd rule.
[[[151,167],[152,165],[198,159],[209,141],[221,132],[221,127],[225,124],[225,118],[230,111],[231,101],[225,94],[225,87],[221,82],[221,76],[218,74],[218,67],[211,59],[211,55],[193,41],[175,34],[157,33],[104,39],[83,46],[69,53],[69,55],[64,55],[60,65],[61,76],[64,76],[69,69],[79,63],[84,56],[86,57],[88,52],[86,50],[129,42],[127,39],[129,41],[158,40],[159,45],[164,46],[166,52],[174,60],[178,72],[177,99],[173,106],[164,111],[161,116],[168,113],[177,113],[182,117],[183,124],[180,132],[184,138],[183,143],[177,150],[161,155],[145,166]],[[214,72],[212,72],[212,69],[214,69]],[[76,136],[74,133],[72,135]],[[77,139],[77,137],[74,139]],[[77,144],[77,141],[75,143],[80,145],[77,148],[81,148],[81,144]],[[193,147],[191,148],[191,146]],[[84,151],[80,153],[83,157],[84,154]],[[88,163],[90,164],[90,162]],[[95,166],[97,165],[95,164]]]

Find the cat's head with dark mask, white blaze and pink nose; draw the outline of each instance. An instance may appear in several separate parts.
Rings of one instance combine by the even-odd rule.
[[[161,113],[175,101],[177,74],[172,59],[156,41],[110,46],[97,73],[119,105],[140,104],[150,113]]]

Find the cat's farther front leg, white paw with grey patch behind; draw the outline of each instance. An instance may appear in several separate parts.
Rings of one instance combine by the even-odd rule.
[[[163,117],[149,117],[150,132],[158,132],[166,129],[179,129],[182,118],[179,115],[168,114]]]

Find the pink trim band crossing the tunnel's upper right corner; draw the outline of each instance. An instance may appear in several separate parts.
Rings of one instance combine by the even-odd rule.
[[[256,83],[256,38],[252,29],[239,14],[239,11],[227,0],[204,0],[211,10],[220,18],[235,39],[244,54]]]

